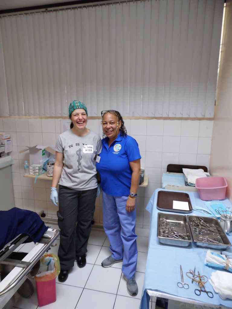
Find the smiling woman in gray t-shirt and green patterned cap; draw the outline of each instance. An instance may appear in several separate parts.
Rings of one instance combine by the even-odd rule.
[[[59,135],[55,146],[56,161],[50,198],[54,205],[59,200],[60,282],[67,280],[75,257],[79,267],[86,264],[95,200],[101,193],[101,187],[97,184],[95,161],[101,152],[101,137],[86,128],[87,116],[84,103],[76,100],[70,103],[70,130]]]

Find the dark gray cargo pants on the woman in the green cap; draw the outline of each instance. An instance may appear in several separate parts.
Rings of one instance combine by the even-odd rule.
[[[96,197],[97,188],[79,191],[59,186],[57,217],[60,229],[58,257],[61,270],[71,269],[75,257],[87,252]]]

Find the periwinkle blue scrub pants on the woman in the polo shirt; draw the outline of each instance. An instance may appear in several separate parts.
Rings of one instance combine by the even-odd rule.
[[[116,260],[122,260],[122,273],[134,277],[138,250],[135,235],[136,212],[126,211],[128,196],[111,196],[102,192],[103,226],[110,241],[110,251]]]

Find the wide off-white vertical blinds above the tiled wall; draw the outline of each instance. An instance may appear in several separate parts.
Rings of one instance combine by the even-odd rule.
[[[0,116],[213,117],[224,0],[0,18]]]

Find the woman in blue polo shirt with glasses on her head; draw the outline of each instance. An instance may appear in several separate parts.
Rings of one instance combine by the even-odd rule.
[[[118,111],[102,111],[102,150],[96,159],[101,176],[103,226],[110,241],[112,254],[102,261],[110,267],[122,261],[122,273],[127,291],[138,293],[134,278],[137,265],[135,235],[136,193],[140,177],[140,151],[134,138],[127,135],[122,116]]]

